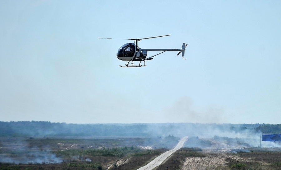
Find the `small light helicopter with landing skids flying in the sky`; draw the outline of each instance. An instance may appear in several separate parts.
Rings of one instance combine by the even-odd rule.
[[[118,49],[117,58],[119,60],[128,62],[127,64],[125,64],[125,66],[120,65],[120,67],[127,67],[127,68],[128,67],[145,67],[146,60],[152,60],[153,57],[155,57],[159,54],[162,54],[166,51],[180,51],[177,55],[179,55],[181,53],[182,58],[184,58],[185,47],[187,46],[187,44],[185,45],[185,43],[182,43],[181,49],[141,49],[138,46],[138,42],[141,40],[165,37],[165,36],[170,36],[170,35],[162,35],[162,36],[157,36],[157,37],[148,37],[148,38],[139,38],[139,39],[123,39],[123,40],[134,40],[134,43],[131,43],[131,42],[126,43]],[[100,39],[115,39],[115,38],[100,38]],[[135,42],[136,42],[136,44],[135,44]],[[147,51],[162,51],[162,52],[147,58]],[[138,65],[134,65],[134,61],[139,61],[140,63]],[[142,62],[144,63],[144,65],[141,65]]]

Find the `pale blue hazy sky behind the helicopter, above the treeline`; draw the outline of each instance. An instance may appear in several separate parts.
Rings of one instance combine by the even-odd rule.
[[[0,0],[0,121],[271,123],[281,1]],[[121,68],[118,48],[181,48]],[[117,39],[98,39],[117,38]],[[157,54],[149,51],[148,57]]]

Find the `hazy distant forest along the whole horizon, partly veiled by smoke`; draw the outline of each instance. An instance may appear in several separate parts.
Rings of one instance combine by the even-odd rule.
[[[161,137],[212,132],[280,134],[281,124],[68,124],[44,121],[0,122],[0,137]]]

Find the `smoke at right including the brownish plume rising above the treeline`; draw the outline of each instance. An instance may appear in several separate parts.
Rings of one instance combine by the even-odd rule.
[[[179,98],[172,106],[166,107],[160,119],[168,119],[173,122],[190,122],[166,123],[162,124],[162,126],[152,125],[150,129],[154,134],[162,136],[189,136],[186,146],[221,149],[281,147],[280,143],[262,142],[260,133],[255,131],[255,128],[258,126],[257,124],[226,124],[227,115],[223,108],[215,105],[207,108],[196,108],[193,101],[187,96]],[[191,138],[198,138],[198,140],[191,141]],[[212,146],[208,145],[208,143],[212,144]]]

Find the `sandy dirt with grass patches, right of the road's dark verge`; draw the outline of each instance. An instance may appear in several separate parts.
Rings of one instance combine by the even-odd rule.
[[[281,169],[280,148],[247,148],[223,140],[206,140],[211,146],[202,149],[205,157],[185,158],[182,170]]]

